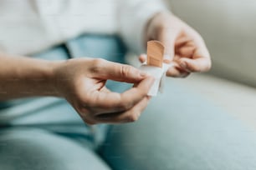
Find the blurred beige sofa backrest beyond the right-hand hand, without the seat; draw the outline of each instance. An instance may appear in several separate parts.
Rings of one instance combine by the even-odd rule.
[[[256,87],[255,0],[165,1],[207,42],[211,74]]]

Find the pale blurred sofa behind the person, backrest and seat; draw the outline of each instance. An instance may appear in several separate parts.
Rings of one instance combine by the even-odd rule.
[[[256,1],[166,0],[207,43],[212,70],[175,79],[256,129]]]

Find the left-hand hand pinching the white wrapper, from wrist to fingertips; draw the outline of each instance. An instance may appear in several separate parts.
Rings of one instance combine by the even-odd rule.
[[[88,124],[136,121],[149,102],[147,92],[154,82],[135,67],[90,58],[61,62],[54,75],[59,96]],[[110,92],[105,87],[108,79],[135,85],[123,93]]]

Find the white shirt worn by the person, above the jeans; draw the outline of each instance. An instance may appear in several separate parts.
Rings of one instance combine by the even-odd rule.
[[[40,52],[85,32],[119,33],[140,52],[146,22],[163,10],[161,0],[1,0],[0,52]]]

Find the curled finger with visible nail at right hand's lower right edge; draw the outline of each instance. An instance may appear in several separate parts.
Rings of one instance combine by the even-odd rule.
[[[211,60],[208,57],[181,58],[179,65],[190,72],[207,72],[211,68]]]

